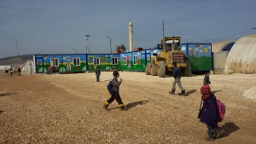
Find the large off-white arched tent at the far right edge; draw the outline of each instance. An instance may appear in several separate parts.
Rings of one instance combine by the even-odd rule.
[[[241,37],[230,49],[224,72],[256,73],[256,35]]]

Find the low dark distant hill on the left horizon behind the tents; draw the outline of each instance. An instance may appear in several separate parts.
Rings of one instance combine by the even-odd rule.
[[[33,55],[20,55],[19,64],[24,64],[27,60],[33,60]],[[18,65],[18,56],[10,56],[3,59],[0,59],[0,66],[3,65]]]

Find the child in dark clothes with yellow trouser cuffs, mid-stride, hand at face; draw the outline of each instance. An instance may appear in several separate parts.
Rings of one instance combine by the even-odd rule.
[[[108,106],[115,100],[119,103],[119,107],[121,110],[125,110],[124,103],[119,95],[119,86],[122,83],[122,78],[119,78],[119,72],[114,71],[113,72],[113,79],[111,83],[113,84],[113,95],[108,99],[108,101],[105,102],[104,108],[108,110]]]

